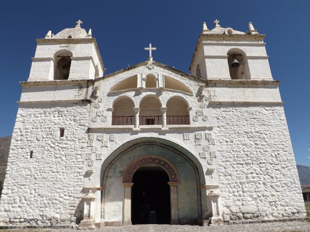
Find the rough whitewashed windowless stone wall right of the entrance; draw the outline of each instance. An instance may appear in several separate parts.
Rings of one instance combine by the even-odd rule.
[[[226,220],[305,217],[281,106],[213,107]]]

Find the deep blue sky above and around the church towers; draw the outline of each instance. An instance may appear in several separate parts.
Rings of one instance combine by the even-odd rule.
[[[2,1],[0,6],[0,136],[11,135],[20,99],[19,81],[29,76],[36,38],[73,28],[92,28],[105,74],[154,60],[189,72],[202,23],[246,32],[248,22],[266,34],[273,79],[280,92],[297,164],[310,166],[310,1]]]

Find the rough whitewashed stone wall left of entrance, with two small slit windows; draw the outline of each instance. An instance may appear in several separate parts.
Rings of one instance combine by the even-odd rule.
[[[81,216],[88,106],[20,106],[0,201],[0,222],[75,224]],[[33,107],[33,108],[30,108]],[[59,127],[65,136],[59,137]],[[30,158],[30,151],[33,157]]]

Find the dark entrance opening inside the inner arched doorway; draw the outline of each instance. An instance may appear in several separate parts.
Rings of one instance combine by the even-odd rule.
[[[160,167],[144,166],[133,176],[132,224],[170,224],[168,174]]]

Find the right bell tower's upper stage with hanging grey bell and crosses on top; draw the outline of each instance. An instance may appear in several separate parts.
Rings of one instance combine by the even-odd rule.
[[[263,38],[249,23],[247,32],[203,23],[189,70],[202,79],[272,80]]]

